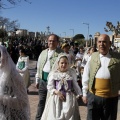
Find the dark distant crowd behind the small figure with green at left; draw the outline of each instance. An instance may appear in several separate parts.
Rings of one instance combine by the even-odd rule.
[[[29,56],[29,59],[37,60],[41,51],[46,48],[45,45],[41,43],[40,40],[9,40],[7,42],[1,43],[3,46],[7,48],[8,53],[10,54],[14,63],[17,63],[19,57],[19,49],[24,48],[26,55]]]

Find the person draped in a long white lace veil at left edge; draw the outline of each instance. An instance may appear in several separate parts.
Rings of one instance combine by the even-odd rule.
[[[23,79],[2,45],[0,53],[0,120],[30,120],[29,101]]]

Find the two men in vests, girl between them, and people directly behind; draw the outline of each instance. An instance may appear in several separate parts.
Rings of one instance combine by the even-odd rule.
[[[111,48],[108,35],[98,37],[97,49],[68,42],[58,47],[58,36],[50,35],[48,48],[42,51],[37,64],[36,120],[80,120],[79,97],[87,104],[87,120],[116,120],[118,69],[120,54]]]

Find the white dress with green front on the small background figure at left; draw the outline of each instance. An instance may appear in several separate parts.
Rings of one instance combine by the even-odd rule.
[[[23,62],[23,68],[20,68],[20,63]],[[17,62],[17,65],[16,65],[16,69],[17,70],[21,70],[22,72],[20,72],[20,75],[22,76],[24,82],[25,82],[25,85],[26,85],[26,88],[29,87],[29,84],[30,84],[30,73],[29,73],[29,70],[28,70],[28,67],[29,67],[29,57],[28,56],[24,56],[24,57],[19,57],[18,59],[18,62]]]

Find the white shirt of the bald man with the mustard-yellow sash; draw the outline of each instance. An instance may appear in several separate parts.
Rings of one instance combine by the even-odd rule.
[[[108,70],[108,65],[109,65],[110,59],[111,59],[111,55],[109,53],[107,55],[100,54],[101,67],[97,71],[95,78],[110,79],[110,72]],[[90,74],[90,60],[91,60],[91,56],[89,57],[86,65],[84,67],[84,72],[83,72],[83,77],[82,77],[83,96],[87,96],[87,91],[88,91],[89,74]]]

